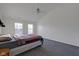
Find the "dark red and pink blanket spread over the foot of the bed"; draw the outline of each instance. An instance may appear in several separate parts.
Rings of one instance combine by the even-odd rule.
[[[30,34],[30,35],[23,35],[20,37],[15,37],[15,39],[18,41],[18,45],[22,45],[26,43],[36,42],[38,40],[41,40],[42,37],[38,35]]]

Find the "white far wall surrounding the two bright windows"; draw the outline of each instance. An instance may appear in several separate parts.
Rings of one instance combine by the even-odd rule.
[[[11,17],[3,17],[4,21],[3,23],[5,24],[5,27],[2,27],[1,32],[2,34],[15,34],[15,26],[14,23],[22,23],[23,24],[23,33],[27,34],[28,33],[28,24],[33,24],[34,25],[34,33],[37,32],[37,23],[33,21],[27,21],[23,19],[16,19],[16,18],[11,18]]]

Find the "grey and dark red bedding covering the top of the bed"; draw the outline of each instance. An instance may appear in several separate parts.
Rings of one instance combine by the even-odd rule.
[[[36,41],[42,42],[41,36],[20,36],[20,37],[12,37],[12,40],[0,44],[0,48],[16,48],[25,44],[30,44]],[[0,42],[1,43],[1,42]]]

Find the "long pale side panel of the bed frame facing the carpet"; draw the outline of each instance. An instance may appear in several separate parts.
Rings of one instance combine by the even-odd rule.
[[[36,42],[30,43],[30,44],[26,44],[26,45],[22,45],[20,47],[13,48],[13,49],[11,49],[10,56],[20,54],[22,52],[28,51],[28,50],[35,48],[37,46],[40,46],[40,45],[42,45],[41,41],[36,41]]]

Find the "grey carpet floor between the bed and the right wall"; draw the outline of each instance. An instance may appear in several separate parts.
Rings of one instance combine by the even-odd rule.
[[[79,56],[79,47],[45,39],[43,46],[17,56]]]

